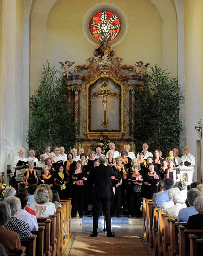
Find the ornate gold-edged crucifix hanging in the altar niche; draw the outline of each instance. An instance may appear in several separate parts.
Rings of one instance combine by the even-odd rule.
[[[108,125],[108,121],[107,121],[107,97],[112,96],[114,98],[117,98],[119,94],[118,94],[117,91],[107,92],[107,91],[109,91],[107,82],[103,82],[101,84],[100,90],[101,90],[101,92],[93,91],[91,95],[92,95],[93,98],[96,98],[97,96],[103,97],[103,100],[102,100],[102,103],[103,103],[103,121],[101,122],[101,125],[106,127]]]

